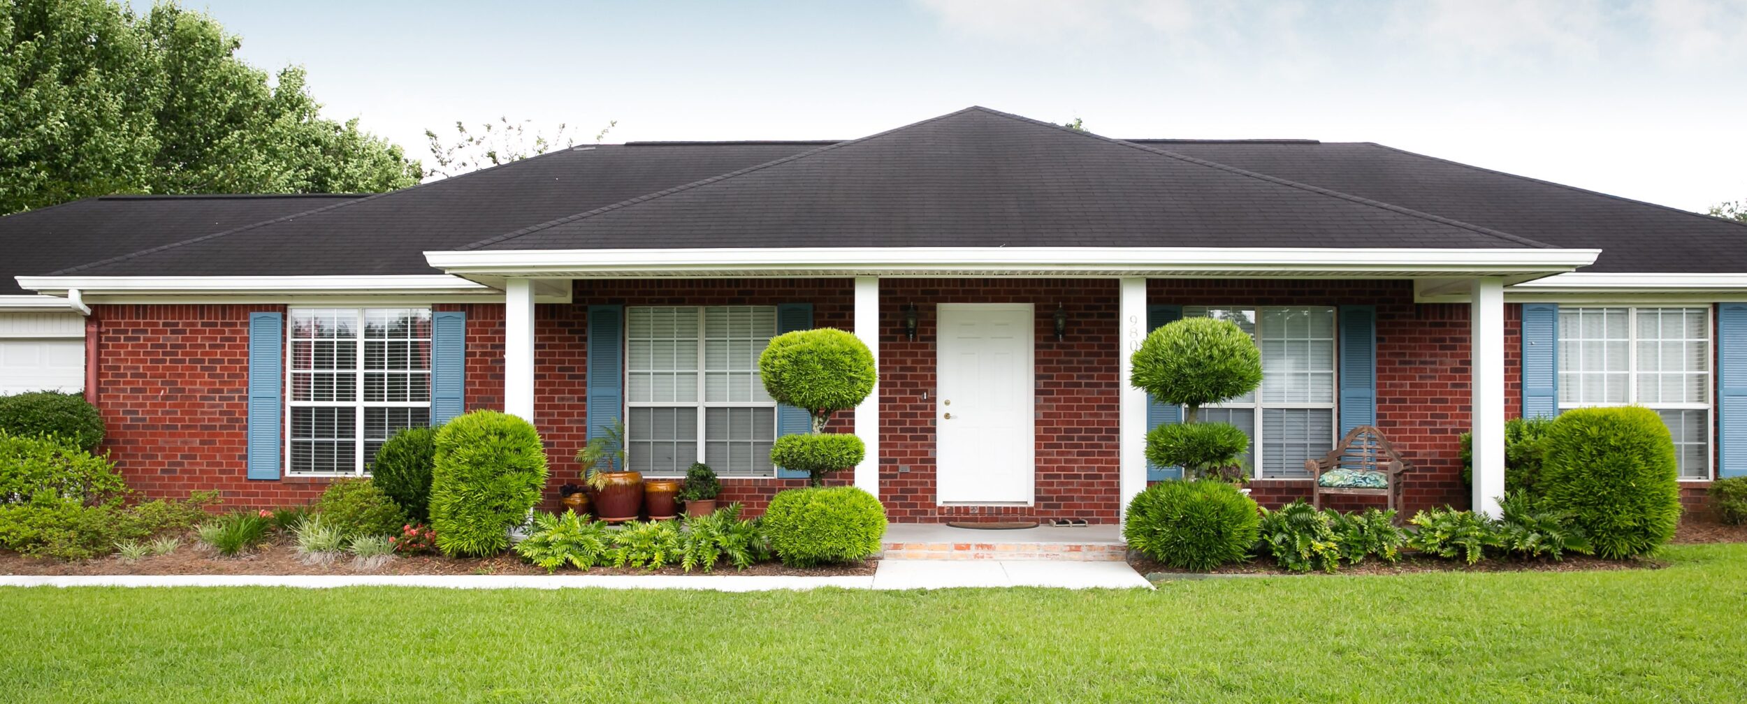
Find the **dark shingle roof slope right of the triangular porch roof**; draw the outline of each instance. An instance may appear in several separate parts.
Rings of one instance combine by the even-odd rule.
[[[1747,225],[1375,143],[1132,140],[1569,248],[1586,273],[1747,273]]]

